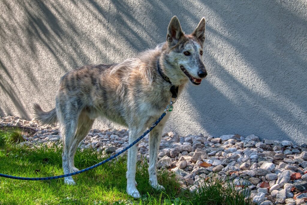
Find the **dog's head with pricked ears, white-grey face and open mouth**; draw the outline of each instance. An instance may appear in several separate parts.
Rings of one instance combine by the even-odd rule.
[[[181,30],[176,16],[170,21],[166,36],[165,61],[171,65],[166,73],[173,81],[190,80],[193,84],[199,85],[202,78],[207,76],[202,60],[204,34],[204,18],[200,20],[194,32],[189,35],[185,35]]]

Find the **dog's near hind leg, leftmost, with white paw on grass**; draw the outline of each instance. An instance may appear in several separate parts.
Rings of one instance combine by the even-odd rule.
[[[72,140],[76,133],[79,109],[74,103],[59,102],[57,105],[57,114],[60,120],[60,130],[63,138],[63,170],[64,174],[71,173],[69,168],[69,150],[72,145]],[[65,177],[66,184],[76,184],[72,176]]]

